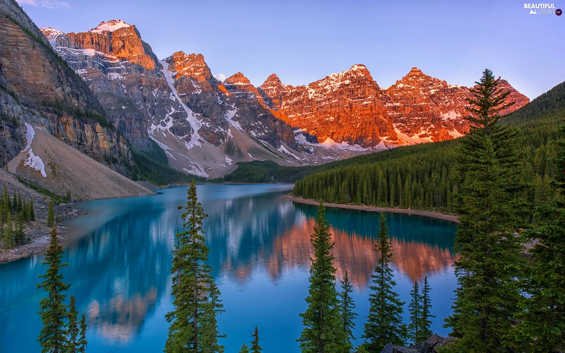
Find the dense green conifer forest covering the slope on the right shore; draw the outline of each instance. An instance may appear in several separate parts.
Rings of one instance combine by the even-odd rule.
[[[551,158],[559,138],[559,123],[565,117],[565,84],[559,84],[502,121],[523,133],[521,182],[528,202],[541,204],[554,198],[550,186],[557,172]],[[399,147],[379,152],[379,161],[367,163],[367,156],[351,158],[345,165],[298,180],[293,195],[326,202],[371,206],[431,209],[451,212],[453,195],[460,188],[453,168],[458,140]]]

